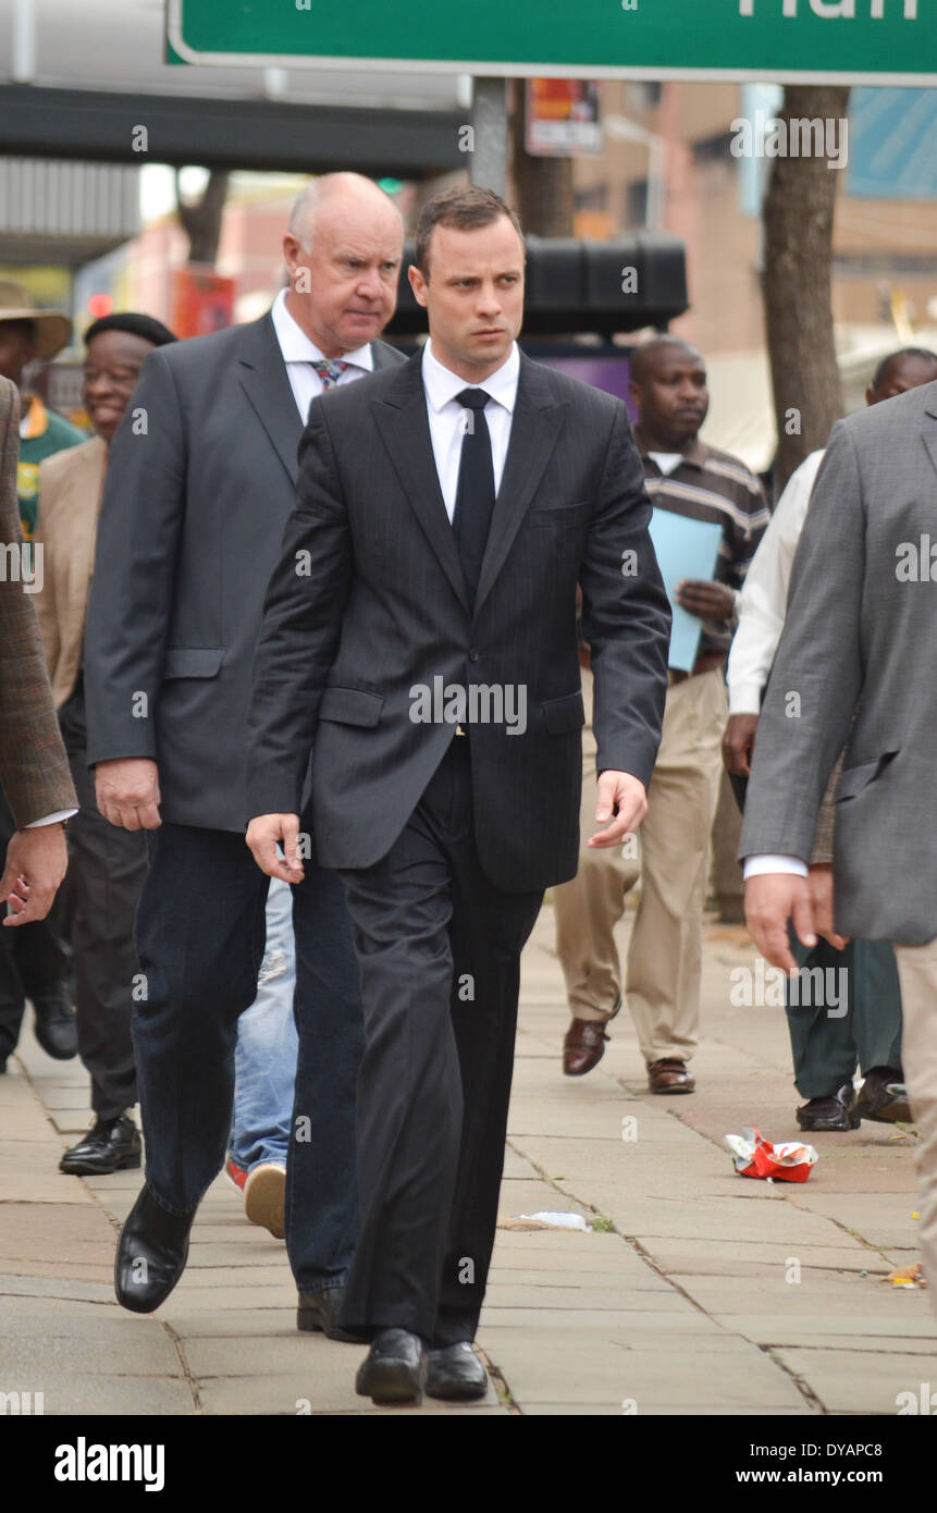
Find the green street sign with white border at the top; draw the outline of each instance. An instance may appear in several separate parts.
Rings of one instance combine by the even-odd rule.
[[[937,83],[937,0],[168,0],[186,64]]]

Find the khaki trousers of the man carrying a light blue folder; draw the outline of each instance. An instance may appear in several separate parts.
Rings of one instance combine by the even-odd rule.
[[[557,956],[575,1018],[604,1021],[616,1009],[621,967],[613,929],[625,894],[642,879],[627,968],[628,1008],[648,1064],[689,1061],[696,1047],[710,832],[722,773],[727,720],[722,669],[668,690],[648,814],[637,844],[589,850],[595,835],[595,738],[592,675],[583,675],[580,870],[554,890]]]

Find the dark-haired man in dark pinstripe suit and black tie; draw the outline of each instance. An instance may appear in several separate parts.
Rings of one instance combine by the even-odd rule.
[[[645,811],[671,623],[624,404],[518,353],[524,242],[504,201],[430,201],[410,281],[428,346],[306,428],[248,779],[248,844],[295,882],[312,752],[313,843],[356,929],[362,1235],[341,1319],[371,1341],[357,1390],[378,1403],[486,1390],[471,1341],[519,958],[543,888],[577,867],[577,584],[599,846]]]

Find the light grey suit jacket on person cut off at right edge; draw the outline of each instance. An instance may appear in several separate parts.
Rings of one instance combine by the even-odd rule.
[[[795,558],[745,803],[742,856],[808,861],[826,779],[848,747],[833,852],[836,927],[845,935],[907,946],[937,935],[935,669],[931,383],[833,431]]]

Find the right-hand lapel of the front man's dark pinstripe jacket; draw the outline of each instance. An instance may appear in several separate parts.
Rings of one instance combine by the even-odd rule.
[[[554,399],[543,369],[521,357],[518,399],[510,427],[504,475],[487,536],[475,614],[501,572],[566,419],[566,404]]]

